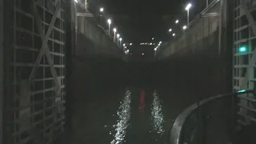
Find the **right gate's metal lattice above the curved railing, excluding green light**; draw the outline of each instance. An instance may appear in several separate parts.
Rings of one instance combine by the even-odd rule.
[[[251,14],[256,7],[248,5],[255,0],[235,0],[234,7],[234,90],[254,89],[254,68],[256,62],[256,49],[253,42],[256,41],[256,24]],[[250,8],[249,8],[250,7]],[[242,19],[243,17],[243,19]],[[247,23],[246,23],[247,21]],[[243,23],[243,24],[242,24]],[[248,34],[244,33],[248,29]],[[248,38],[242,38],[248,37]],[[247,45],[248,51],[238,53],[240,46]],[[244,58],[246,57],[246,58]]]

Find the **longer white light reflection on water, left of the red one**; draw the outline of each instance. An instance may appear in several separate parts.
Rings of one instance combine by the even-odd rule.
[[[126,129],[129,126],[130,120],[130,102],[131,102],[131,92],[130,90],[126,90],[125,97],[120,102],[120,107],[118,108],[118,123],[114,125],[115,134],[114,139],[111,144],[118,144],[123,142],[126,136]],[[110,132],[111,134],[111,132]]]

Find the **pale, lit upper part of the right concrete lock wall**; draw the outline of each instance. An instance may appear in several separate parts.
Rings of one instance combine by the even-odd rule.
[[[207,13],[218,13],[219,2]],[[220,16],[201,17],[191,22],[183,34],[178,35],[163,48],[161,58],[194,53],[217,54]]]

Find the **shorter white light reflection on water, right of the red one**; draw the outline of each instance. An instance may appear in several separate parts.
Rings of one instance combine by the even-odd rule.
[[[155,90],[153,94],[154,100],[151,106],[151,116],[152,116],[152,125],[153,129],[158,134],[163,134],[165,130],[163,129],[163,114],[162,114],[162,105],[161,100],[158,98],[158,92]]]

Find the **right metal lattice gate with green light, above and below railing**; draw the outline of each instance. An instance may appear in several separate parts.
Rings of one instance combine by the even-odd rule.
[[[233,87],[234,91],[253,90],[256,86],[256,0],[235,0],[234,5]],[[240,100],[240,123],[256,122],[255,102],[253,94]]]

